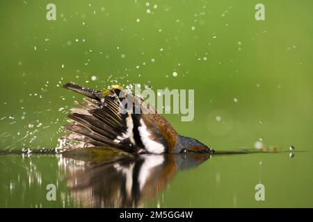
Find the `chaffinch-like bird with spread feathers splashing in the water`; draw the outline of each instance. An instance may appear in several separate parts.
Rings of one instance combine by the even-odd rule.
[[[64,126],[70,133],[61,139],[73,142],[71,148],[109,146],[138,154],[215,153],[197,139],[179,135],[152,105],[120,85],[103,91],[74,83],[63,87],[86,96],[77,102],[81,108],[72,108],[68,114],[71,124]],[[129,99],[131,105],[125,105]]]

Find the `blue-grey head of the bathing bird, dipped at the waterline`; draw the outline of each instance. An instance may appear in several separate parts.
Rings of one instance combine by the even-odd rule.
[[[215,153],[214,149],[202,144],[197,139],[178,135],[174,147],[175,153]]]

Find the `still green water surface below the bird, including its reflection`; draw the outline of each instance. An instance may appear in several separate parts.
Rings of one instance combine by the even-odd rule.
[[[1,207],[313,206],[310,152],[0,159]],[[56,185],[55,201],[46,198],[49,184]],[[255,200],[257,184],[264,201]]]

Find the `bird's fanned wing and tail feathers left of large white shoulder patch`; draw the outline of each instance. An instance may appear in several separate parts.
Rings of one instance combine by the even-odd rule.
[[[109,146],[129,153],[137,153],[141,149],[131,143],[134,141],[134,126],[130,114],[120,112],[120,87],[111,87],[104,92],[73,83],[63,87],[88,96],[84,102],[77,102],[81,108],[73,108],[68,115],[72,124],[64,126],[71,133],[62,139],[79,142],[71,148]]]

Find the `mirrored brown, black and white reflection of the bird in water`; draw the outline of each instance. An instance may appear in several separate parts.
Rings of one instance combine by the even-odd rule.
[[[209,157],[147,154],[125,155],[114,161],[97,158],[77,162],[77,158],[62,157],[60,162],[72,197],[84,207],[143,207],[145,200],[157,196],[179,171],[196,167]]]

